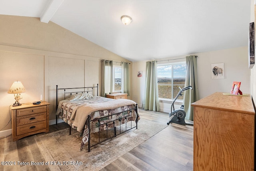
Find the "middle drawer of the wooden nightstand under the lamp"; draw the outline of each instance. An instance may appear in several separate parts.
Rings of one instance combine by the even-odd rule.
[[[34,123],[34,122],[44,121],[44,120],[46,120],[46,112],[17,117],[16,124],[17,126],[20,126],[20,125],[25,125],[28,123]]]

